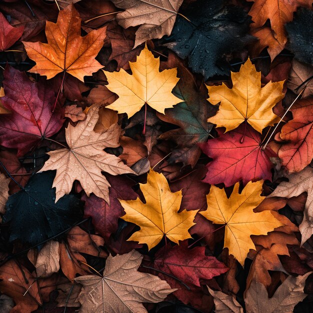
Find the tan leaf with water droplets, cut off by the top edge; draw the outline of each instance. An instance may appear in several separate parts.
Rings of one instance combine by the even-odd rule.
[[[170,35],[182,0],[112,0],[125,9],[117,13],[116,20],[123,27],[139,26],[134,47],[163,35]]]

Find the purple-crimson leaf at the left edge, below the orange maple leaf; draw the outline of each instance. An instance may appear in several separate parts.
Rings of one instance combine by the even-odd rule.
[[[55,97],[46,83],[32,82],[13,67],[6,67],[3,86],[1,101],[12,113],[0,115],[0,143],[17,148],[17,156],[22,156],[61,128],[62,112],[58,106],[51,111]]]

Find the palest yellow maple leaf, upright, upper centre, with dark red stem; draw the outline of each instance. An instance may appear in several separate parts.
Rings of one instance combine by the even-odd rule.
[[[119,71],[104,71],[108,85],[112,92],[118,95],[112,104],[107,105],[118,111],[127,113],[128,117],[139,111],[144,104],[164,114],[164,109],[182,100],[171,93],[178,82],[177,69],[159,71],[159,58],[155,58],[147,46],[143,48],[135,62],[129,62],[132,74],[122,68]]]

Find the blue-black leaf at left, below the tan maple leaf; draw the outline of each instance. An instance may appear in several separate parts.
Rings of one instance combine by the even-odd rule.
[[[82,205],[75,195],[65,195],[55,203],[54,174],[36,173],[23,189],[8,197],[2,222],[10,222],[10,241],[19,239],[34,245],[82,217]]]

